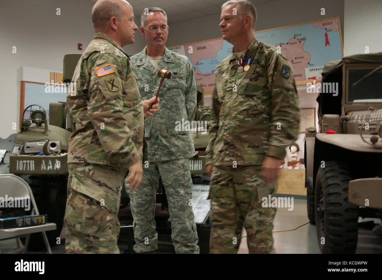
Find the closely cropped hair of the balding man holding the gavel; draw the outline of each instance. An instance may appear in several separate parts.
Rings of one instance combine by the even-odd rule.
[[[97,3],[96,3],[97,4]],[[122,9],[118,3],[104,0],[97,6],[93,6],[92,21],[94,29],[105,29],[110,18],[115,16],[119,21],[123,20]]]

